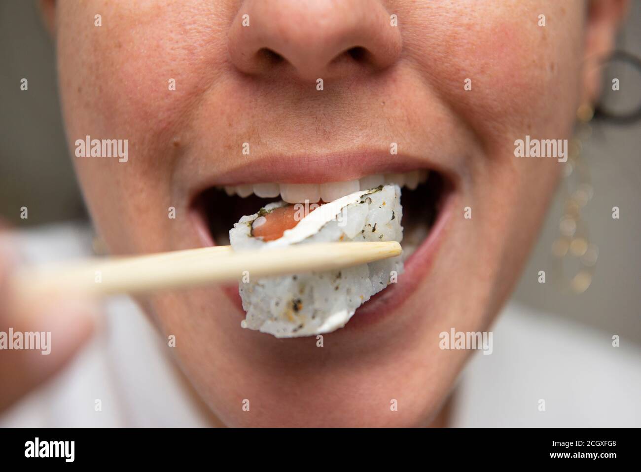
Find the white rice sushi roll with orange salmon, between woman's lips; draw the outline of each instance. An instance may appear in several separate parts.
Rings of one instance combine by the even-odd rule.
[[[401,189],[381,185],[321,206],[271,203],[235,223],[229,241],[235,251],[315,242],[400,242],[402,216]],[[337,271],[250,277],[239,283],[247,312],[242,326],[283,338],[335,331],[402,271],[401,257],[394,257]]]

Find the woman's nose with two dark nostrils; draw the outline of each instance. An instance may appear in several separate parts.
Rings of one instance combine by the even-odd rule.
[[[379,71],[401,54],[394,20],[380,0],[244,0],[229,58],[246,74],[304,81]]]

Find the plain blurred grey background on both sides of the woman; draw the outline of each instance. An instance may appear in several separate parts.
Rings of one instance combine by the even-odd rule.
[[[617,49],[641,58],[641,1],[631,2]],[[64,138],[53,44],[36,1],[0,2],[0,64],[0,217],[15,228],[86,219]],[[28,92],[20,90],[22,78]],[[618,92],[612,78],[620,81]],[[641,106],[641,71],[610,63],[602,103],[616,114]],[[640,149],[641,122],[592,122],[581,156],[594,188],[581,212],[599,247],[592,284],[576,294],[552,283],[551,247],[565,203],[560,191],[515,292],[520,303],[641,344]],[[26,220],[21,207],[29,208]],[[612,219],[612,207],[620,208],[620,219]],[[541,270],[547,283],[538,283]]]

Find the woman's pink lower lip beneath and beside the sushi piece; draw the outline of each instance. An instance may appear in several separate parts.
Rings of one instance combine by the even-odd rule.
[[[354,314],[347,325],[342,330],[358,329],[358,326],[372,325],[380,319],[387,317],[388,314],[397,310],[417,289],[420,282],[425,278],[433,265],[435,255],[444,239],[445,227],[451,215],[453,207],[454,194],[450,192],[443,202],[437,221],[432,226],[426,239],[420,244],[408,260],[404,263],[404,273],[399,275],[399,281],[391,287],[388,286],[383,291],[372,296],[368,301],[363,303]],[[244,317],[242,308],[242,299],[238,294],[238,284],[224,285],[222,290],[238,307]]]

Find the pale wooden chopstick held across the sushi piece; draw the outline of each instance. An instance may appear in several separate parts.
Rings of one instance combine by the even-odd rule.
[[[329,271],[400,255],[396,241],[326,242],[233,251],[231,246],[186,249],[74,264],[24,267],[12,278],[23,296],[76,292],[92,296],[198,287],[260,277]]]

